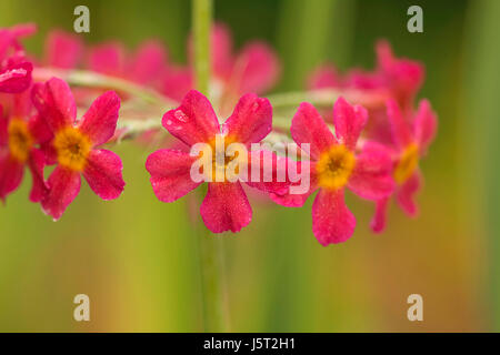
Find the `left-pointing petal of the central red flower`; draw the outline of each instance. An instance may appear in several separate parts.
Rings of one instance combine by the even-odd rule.
[[[191,165],[197,159],[168,149],[148,156],[146,169],[151,174],[151,186],[158,200],[173,202],[201,184],[193,182],[190,175]]]

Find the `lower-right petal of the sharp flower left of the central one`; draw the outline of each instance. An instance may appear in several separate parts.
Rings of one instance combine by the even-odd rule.
[[[90,189],[102,200],[114,200],[123,192],[123,165],[120,156],[107,150],[92,150],[83,176]]]

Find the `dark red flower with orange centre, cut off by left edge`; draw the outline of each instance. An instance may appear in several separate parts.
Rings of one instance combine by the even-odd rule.
[[[0,106],[0,200],[4,201],[7,195],[19,187],[24,168],[28,168],[33,182],[30,200],[40,202],[48,186],[43,179],[46,155],[37,144],[50,140],[51,135],[38,115],[28,119],[20,106],[16,103],[9,115],[2,115]]]

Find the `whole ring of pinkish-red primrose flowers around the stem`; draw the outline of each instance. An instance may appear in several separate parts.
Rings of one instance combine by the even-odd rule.
[[[417,213],[414,195],[422,181],[419,161],[436,135],[437,118],[429,101],[414,105],[423,67],[397,58],[387,42],[377,44],[378,65],[371,72],[354,69],[342,75],[327,64],[311,73],[304,98],[330,95],[329,104],[303,100],[283,109],[271,97],[258,97],[279,79],[277,54],[259,41],[236,52],[221,23],[211,33],[210,101],[193,88],[190,39],[188,63],[179,64],[156,40],[127,53],[118,42],[88,47],[76,34],[53,31],[43,58],[28,60],[20,40],[33,32],[33,26],[0,30],[3,201],[19,186],[24,168],[32,175],[30,200],[54,220],[78,195],[82,175],[98,196],[117,199],[124,187],[122,162],[101,146],[136,133],[158,134],[163,126],[177,143],[148,156],[152,190],[162,202],[187,195],[203,183],[192,178],[201,158],[208,161],[202,175],[222,171],[221,180],[204,180],[207,194],[200,206],[201,219],[213,233],[239,232],[251,222],[248,193],[252,190],[293,207],[302,206],[318,191],[312,232],[322,245],[344,242],[354,232],[356,217],[344,202],[347,190],[372,201],[374,232],[384,229],[391,196],[409,215]],[[77,72],[80,77],[71,75]],[[78,78],[84,79],[78,82]],[[150,106],[138,104],[138,92],[159,99]],[[126,104],[117,130],[121,102]],[[77,111],[86,113],[78,120]],[[161,126],[139,124],[140,112],[148,112]],[[277,120],[273,124],[273,115],[289,122],[288,126],[278,126]],[[219,138],[249,151],[218,151]],[[253,149],[257,143],[287,140],[294,142],[297,159],[266,145]],[[209,152],[196,151],[200,143]],[[223,175],[234,166],[238,179]],[[241,174],[248,170],[253,179],[246,179],[250,173]],[[306,173],[306,191],[294,192],[301,182],[290,171]]]

